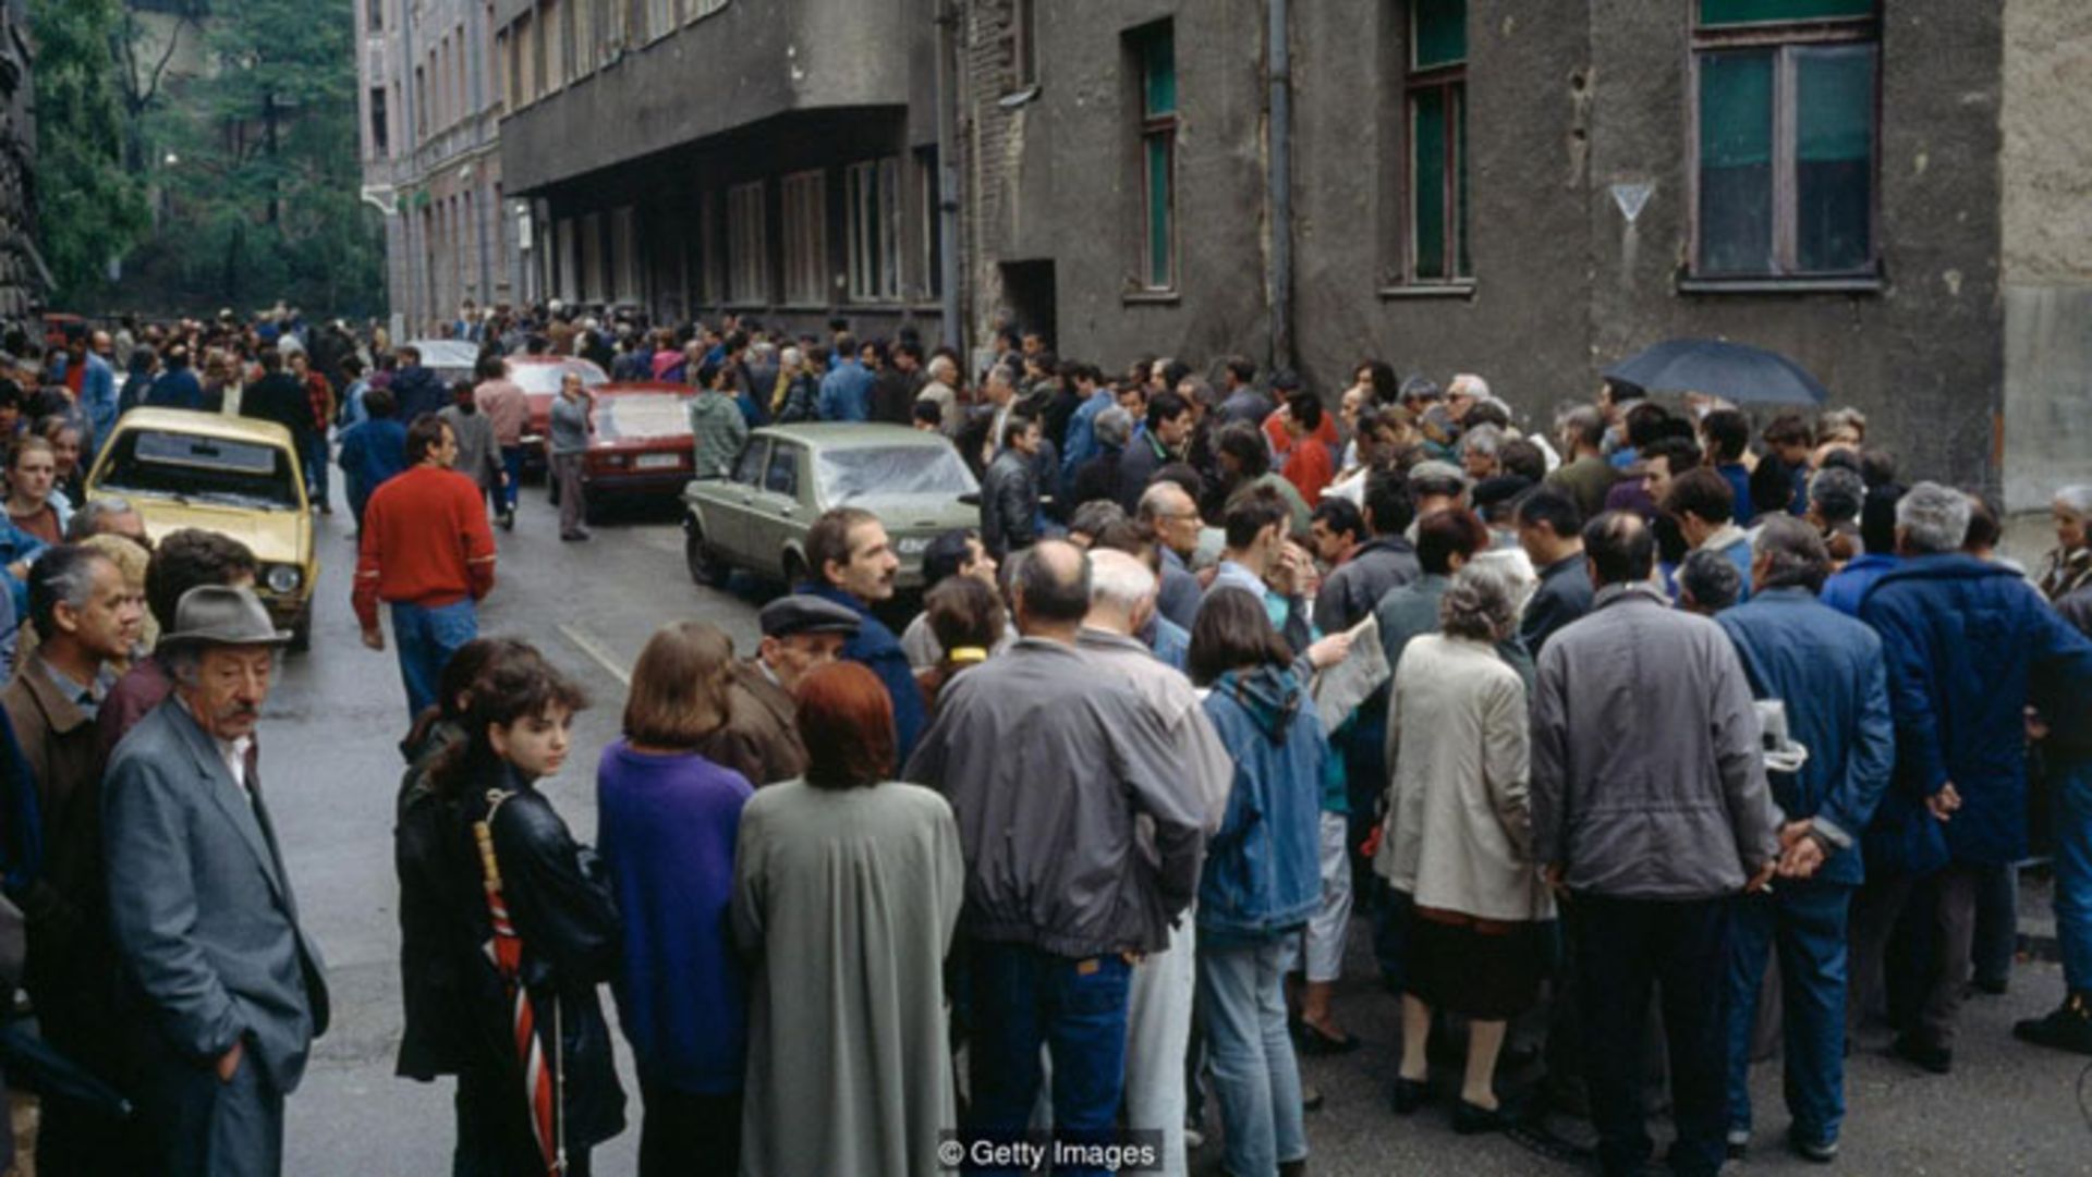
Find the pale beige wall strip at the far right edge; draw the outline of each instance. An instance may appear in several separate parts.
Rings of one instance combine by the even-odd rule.
[[[2004,10],[2004,502],[2092,481],[2092,6]]]

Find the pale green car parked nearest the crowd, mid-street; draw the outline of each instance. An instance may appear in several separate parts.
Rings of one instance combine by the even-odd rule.
[[[979,529],[981,485],[939,433],[902,424],[774,424],[749,435],[728,479],[682,489],[690,577],[724,585],[734,569],[795,585],[805,533],[839,506],[887,525],[897,587],[920,587],[923,550],[943,531]],[[964,495],[964,500],[962,500]]]

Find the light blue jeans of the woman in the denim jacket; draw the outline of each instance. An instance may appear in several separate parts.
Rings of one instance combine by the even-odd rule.
[[[1287,943],[1199,943],[1205,1049],[1226,1135],[1222,1167],[1236,1177],[1272,1177],[1280,1162],[1308,1156],[1301,1072],[1287,1031]]]

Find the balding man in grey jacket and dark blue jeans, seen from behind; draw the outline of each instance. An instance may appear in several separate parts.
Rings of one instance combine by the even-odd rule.
[[[1209,811],[1182,784],[1163,715],[1075,650],[1088,556],[1048,539],[1010,581],[1023,638],[946,686],[902,776],[943,792],[967,853],[967,1127],[1025,1131],[1046,1045],[1054,1129],[1098,1144],[1125,1079],[1128,957],[1169,947]],[[1151,847],[1136,817],[1153,824]]]

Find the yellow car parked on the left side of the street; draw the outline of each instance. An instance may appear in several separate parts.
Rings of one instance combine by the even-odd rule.
[[[247,544],[270,617],[291,631],[293,650],[310,644],[320,567],[305,470],[285,426],[215,412],[132,410],[88,472],[86,498],[128,500],[155,544],[184,527]]]

